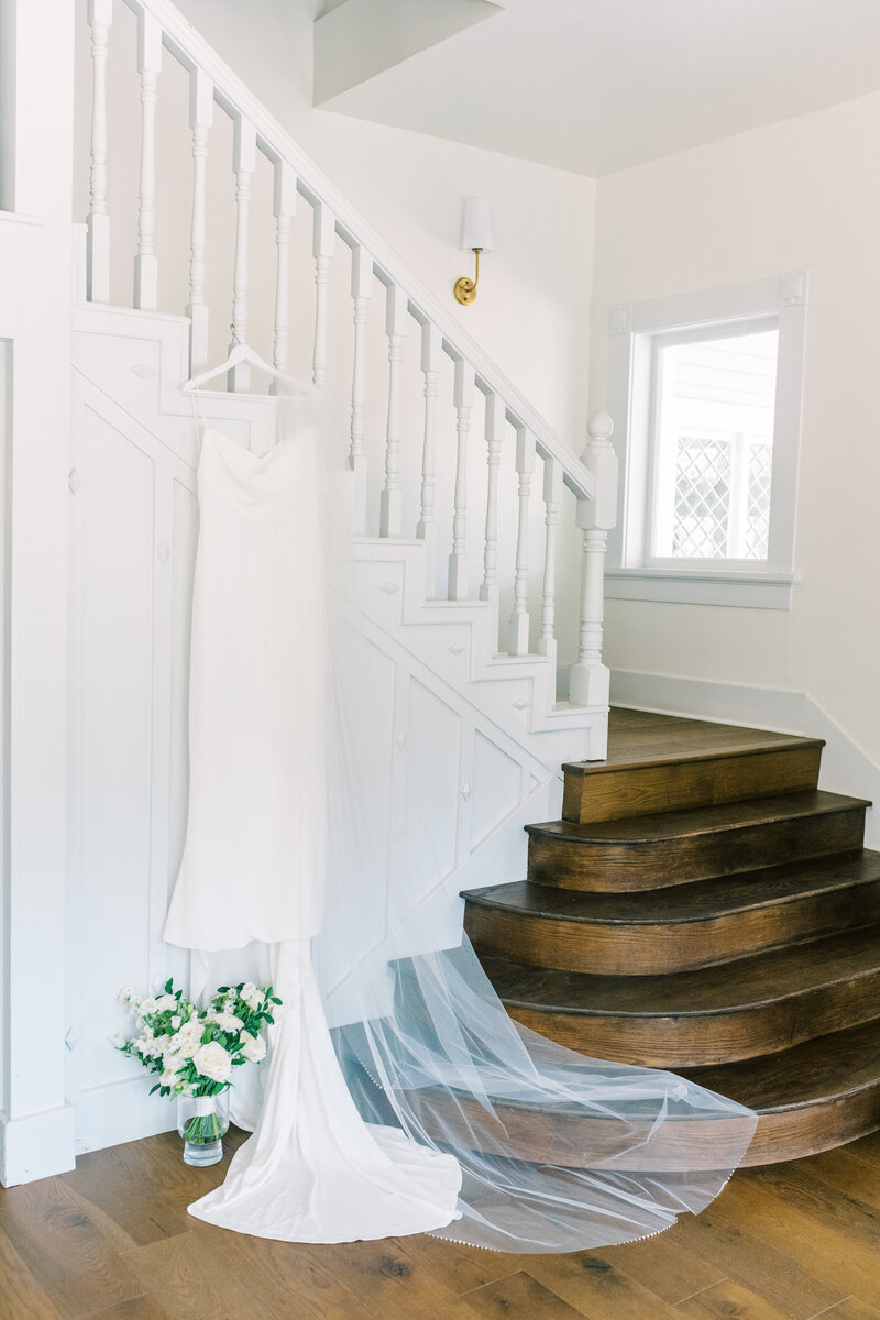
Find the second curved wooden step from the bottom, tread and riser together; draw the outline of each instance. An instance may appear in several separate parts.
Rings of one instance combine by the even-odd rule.
[[[512,1018],[595,1059],[706,1067],[880,1016],[880,925],[699,972],[604,977],[483,966]]]

